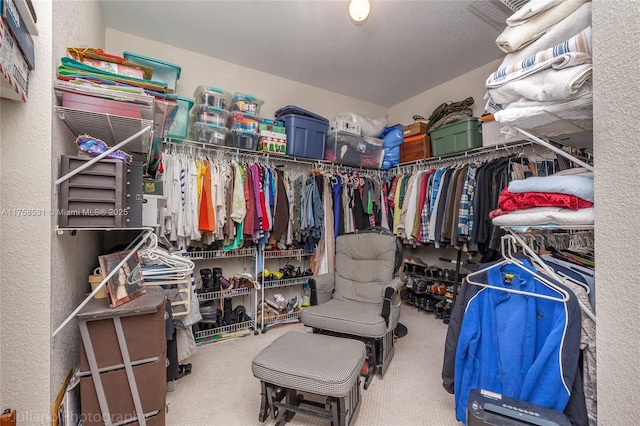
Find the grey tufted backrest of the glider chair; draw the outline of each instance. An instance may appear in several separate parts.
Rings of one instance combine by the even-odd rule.
[[[336,238],[333,298],[382,305],[385,287],[394,279],[396,236],[377,231]]]

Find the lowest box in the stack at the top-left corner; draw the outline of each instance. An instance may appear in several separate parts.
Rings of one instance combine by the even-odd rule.
[[[29,67],[4,19],[0,18],[0,97],[27,101]]]

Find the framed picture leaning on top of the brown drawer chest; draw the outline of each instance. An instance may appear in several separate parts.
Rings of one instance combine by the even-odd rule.
[[[111,271],[116,269],[118,264],[124,259],[129,252],[117,252],[99,256],[100,269],[102,277],[106,278]],[[135,299],[147,292],[142,280],[142,271],[140,270],[140,261],[138,253],[127,259],[127,261],[116,271],[116,273],[107,281],[107,293],[109,294],[109,307],[116,308],[123,303]]]

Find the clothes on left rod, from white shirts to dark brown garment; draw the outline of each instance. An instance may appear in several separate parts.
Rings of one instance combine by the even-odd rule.
[[[291,174],[254,156],[235,157],[167,144],[159,169],[168,189],[161,225],[178,248],[293,242]]]

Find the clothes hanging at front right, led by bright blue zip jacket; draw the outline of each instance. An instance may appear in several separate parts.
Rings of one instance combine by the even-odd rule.
[[[470,390],[481,388],[595,426],[593,231],[509,231],[500,254],[467,263],[449,320],[442,383],[456,418],[466,422]]]

